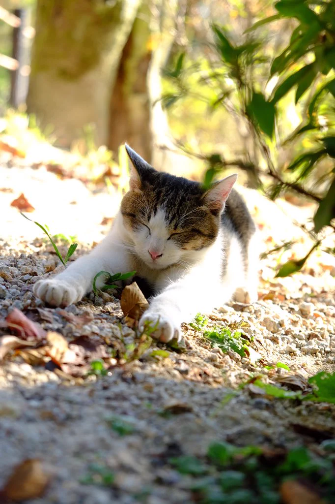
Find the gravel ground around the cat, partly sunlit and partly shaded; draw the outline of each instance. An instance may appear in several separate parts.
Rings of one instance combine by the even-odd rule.
[[[78,180],[59,180],[43,167],[3,163],[0,169],[4,173],[0,187],[4,216],[1,318],[5,320],[16,307],[68,342],[83,337],[80,341],[87,343],[90,338],[93,350],[101,355],[113,349],[108,374],[102,377],[87,375],[95,355],[90,350],[83,366],[70,363],[62,366],[63,372],[56,372],[50,363],[35,363],[24,351],[6,356],[0,368],[0,487],[16,464],[38,458],[52,477],[43,496],[29,500],[30,504],[192,502],[187,478],[171,467],[170,457],[203,455],[214,440],[285,448],[311,446],[318,435],[335,435],[331,405],[272,400],[248,386],[237,388],[255,375],[273,384],[287,383],[286,375],[299,376],[300,383],[305,383],[319,370],[335,370],[332,258],[317,253],[302,273],[274,279],[279,261],[306,254],[308,239],[292,223],[292,215],[300,223],[307,222],[312,207],[298,208],[287,202],[277,206],[256,192],[243,190],[265,250],[298,240],[283,255],[271,254],[263,261],[257,303],[222,306],[206,326],[242,330],[257,352],[254,363],[252,355],[223,353],[191,326],[185,326],[183,348],[152,344],[138,359],[138,337],[122,318],[117,298],[91,295],[65,312],[35,299],[34,282],[61,266],[40,229],[10,206],[24,192],[37,209],[31,218],[79,237],[77,257],[106,234],[108,227],[101,222],[113,216],[117,197],[108,206],[111,197],[105,190],[93,192]],[[199,290],[199,295],[206,293]],[[80,323],[80,317],[88,322]],[[1,331],[6,334],[5,329]],[[276,368],[277,362],[290,371]],[[129,427],[127,435],[120,435],[118,425]],[[112,486],[94,484],[94,477],[92,484],[83,483],[92,475],[92,463],[114,474]]]

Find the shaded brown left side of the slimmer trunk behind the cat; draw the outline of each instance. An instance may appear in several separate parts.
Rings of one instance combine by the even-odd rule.
[[[117,152],[128,142],[147,161],[151,160],[150,109],[147,72],[151,60],[150,10],[139,9],[123,49],[110,101],[108,147]]]

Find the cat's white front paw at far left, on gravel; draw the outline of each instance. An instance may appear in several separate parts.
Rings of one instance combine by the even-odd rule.
[[[56,278],[39,280],[34,285],[33,291],[35,296],[51,306],[68,306],[79,301],[85,294],[85,289],[82,286],[71,285]]]

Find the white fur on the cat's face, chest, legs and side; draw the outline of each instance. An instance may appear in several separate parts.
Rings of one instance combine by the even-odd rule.
[[[169,233],[162,209],[151,217],[148,226],[150,234],[145,226],[137,232],[127,229],[119,213],[108,236],[89,255],[79,258],[56,277],[37,282],[34,293],[53,306],[66,306],[92,290],[99,271],[137,270],[137,275],[146,278],[159,292],[143,314],[139,328],[146,322],[157,324],[154,336],[165,342],[180,339],[183,322],[229,301],[239,287],[245,287],[253,297],[257,294],[254,278],[257,266],[253,264],[254,273],[245,275],[240,243],[234,235],[221,281],[221,231],[213,245],[200,251],[184,251],[172,239],[167,240]],[[148,253],[150,247],[162,257],[153,261]]]

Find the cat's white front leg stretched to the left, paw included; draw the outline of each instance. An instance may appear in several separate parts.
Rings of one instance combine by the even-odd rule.
[[[55,277],[38,281],[34,294],[52,306],[68,306],[92,290],[93,279],[99,271],[123,273],[130,269],[128,249],[112,229],[90,254],[77,259]]]

